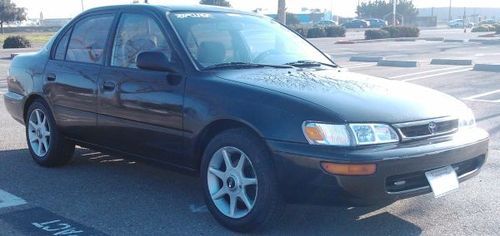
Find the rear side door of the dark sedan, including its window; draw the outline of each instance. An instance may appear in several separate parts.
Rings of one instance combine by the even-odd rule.
[[[44,95],[57,125],[71,138],[95,138],[97,80],[114,17],[113,13],[83,16],[66,27],[45,67]]]

